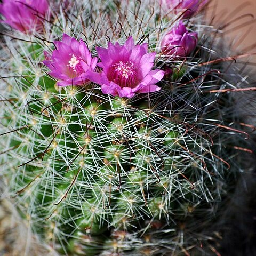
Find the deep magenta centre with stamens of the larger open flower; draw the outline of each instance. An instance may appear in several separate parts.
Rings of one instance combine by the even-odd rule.
[[[113,70],[113,82],[123,87],[135,87],[136,82],[136,71],[134,69],[134,64],[131,61],[123,63],[119,61],[112,65]]]

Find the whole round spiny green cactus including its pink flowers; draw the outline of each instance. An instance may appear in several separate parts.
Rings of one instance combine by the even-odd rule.
[[[246,82],[183,2],[1,4],[0,175],[54,255],[218,255]]]

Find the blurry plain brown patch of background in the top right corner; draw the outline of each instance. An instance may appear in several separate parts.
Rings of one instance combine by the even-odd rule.
[[[230,24],[223,29],[230,38],[233,50],[242,52],[256,52],[256,1],[243,0],[211,0],[210,16],[214,17],[214,23]],[[256,55],[251,60],[256,63]],[[254,65],[252,65],[254,66]]]

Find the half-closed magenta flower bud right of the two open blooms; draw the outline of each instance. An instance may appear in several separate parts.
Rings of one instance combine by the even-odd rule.
[[[187,57],[197,45],[197,33],[189,33],[182,21],[167,33],[162,42],[161,49],[165,55]]]

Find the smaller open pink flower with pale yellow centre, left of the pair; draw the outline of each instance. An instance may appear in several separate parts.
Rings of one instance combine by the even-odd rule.
[[[52,56],[46,56],[43,63],[51,69],[49,75],[60,80],[57,85],[85,85],[90,82],[87,73],[95,69],[98,59],[92,58],[85,42],[63,34],[62,42],[54,41],[54,44],[57,50]]]

